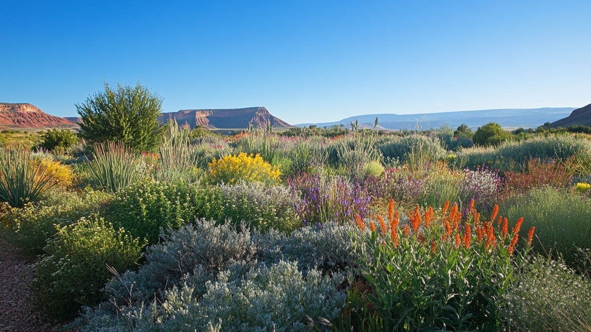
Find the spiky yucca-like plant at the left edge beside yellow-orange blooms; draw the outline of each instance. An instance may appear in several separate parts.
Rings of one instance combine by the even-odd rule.
[[[31,162],[31,151],[22,147],[0,148],[0,202],[22,207],[51,187],[53,173]]]

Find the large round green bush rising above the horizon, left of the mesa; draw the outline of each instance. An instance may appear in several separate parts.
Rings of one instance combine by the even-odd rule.
[[[160,142],[162,99],[139,82],[135,87],[105,91],[76,105],[82,118],[80,135],[91,144],[117,141],[137,151],[151,150]]]

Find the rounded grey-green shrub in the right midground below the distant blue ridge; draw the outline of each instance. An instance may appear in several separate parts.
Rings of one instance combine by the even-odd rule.
[[[446,151],[437,138],[424,135],[410,135],[391,142],[385,142],[378,147],[384,158],[407,161],[411,153],[421,154],[430,160],[442,160]]]

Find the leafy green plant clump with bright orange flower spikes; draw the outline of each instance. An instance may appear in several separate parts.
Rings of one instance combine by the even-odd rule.
[[[364,295],[371,310],[349,312],[359,330],[498,329],[499,305],[530,250],[534,229],[519,237],[522,220],[482,217],[472,201],[464,215],[457,204],[418,206],[400,220],[393,201],[387,219],[356,218]],[[345,311],[348,312],[348,311]]]

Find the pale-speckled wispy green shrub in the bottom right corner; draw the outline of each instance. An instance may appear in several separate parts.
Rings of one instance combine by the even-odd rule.
[[[591,281],[561,261],[538,257],[505,295],[507,326],[515,331],[591,331]]]

